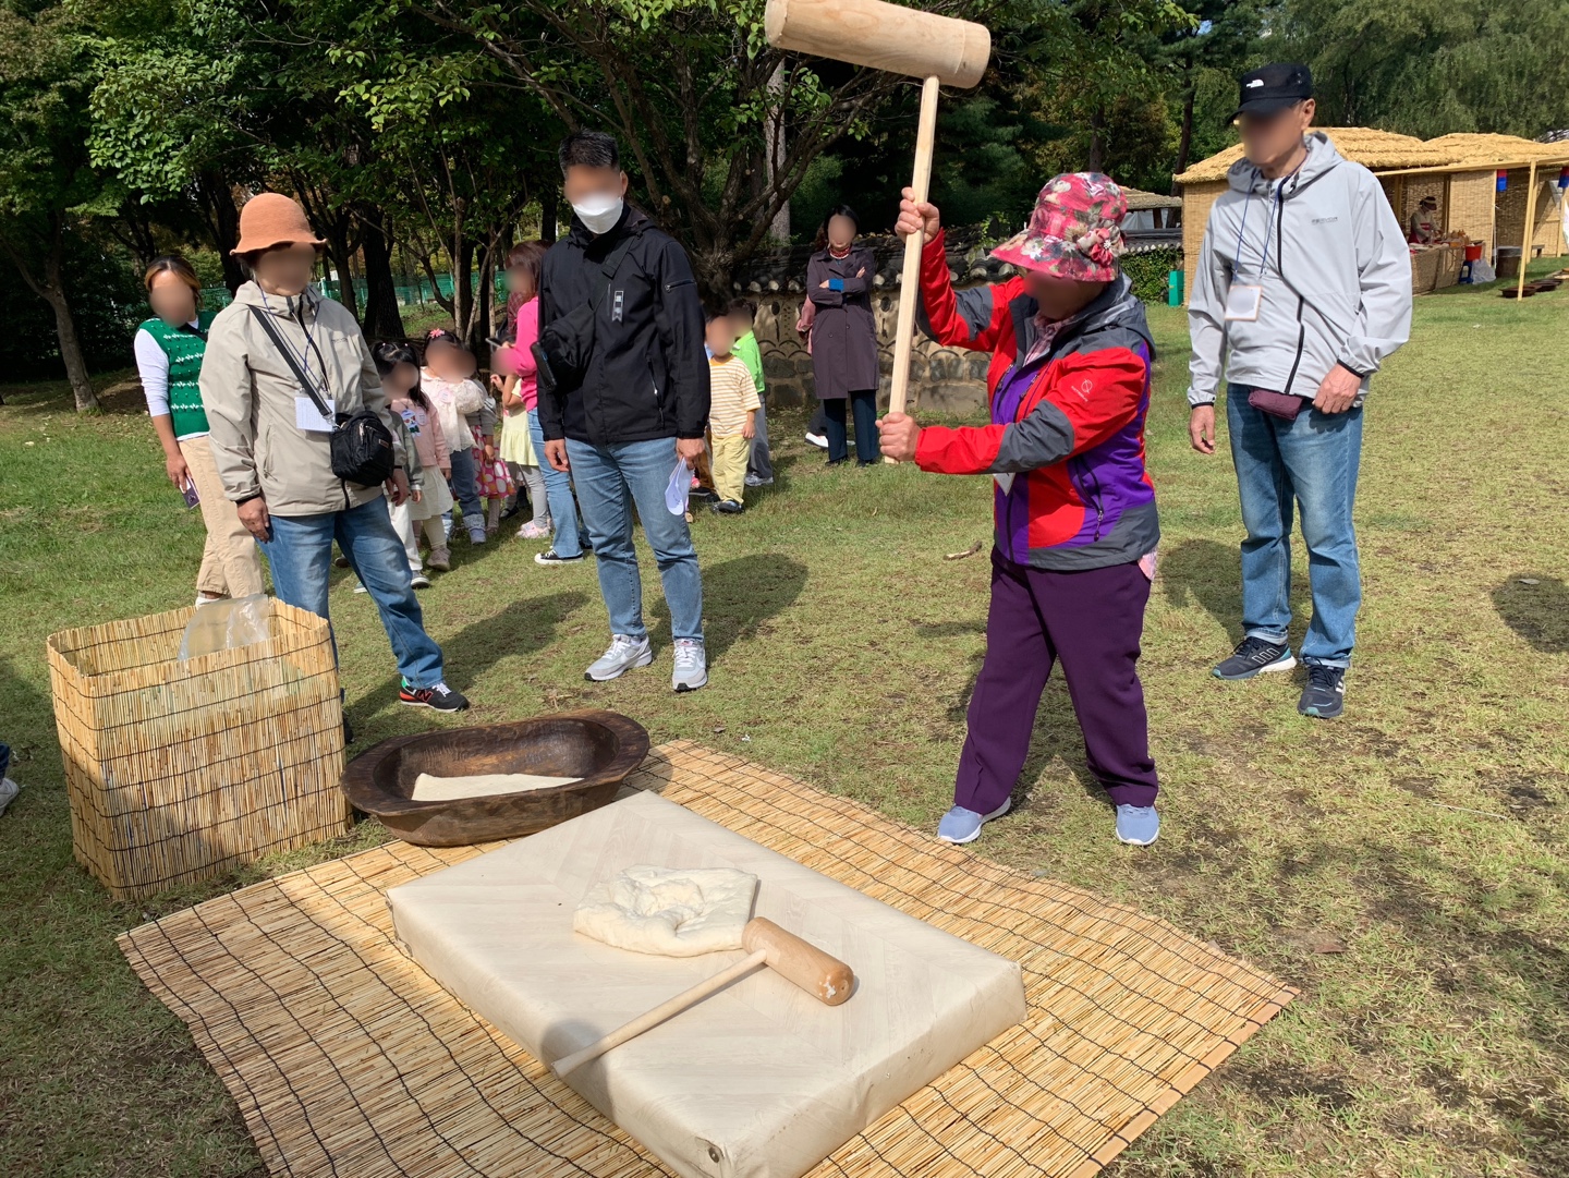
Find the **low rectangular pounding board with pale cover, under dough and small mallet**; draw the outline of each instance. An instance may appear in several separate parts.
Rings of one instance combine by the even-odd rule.
[[[416,962],[555,1060],[744,957],[651,957],[574,933],[584,896],[639,864],[756,875],[758,916],[857,974],[850,999],[827,1007],[758,969],[568,1076],[683,1178],[799,1178],[1025,1018],[1017,962],[654,794],[392,888],[388,902]]]

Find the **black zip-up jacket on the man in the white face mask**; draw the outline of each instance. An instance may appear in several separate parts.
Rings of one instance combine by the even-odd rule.
[[[606,279],[604,262],[626,237],[635,240]],[[708,430],[708,353],[703,303],[679,243],[631,205],[595,237],[573,218],[540,273],[540,331],[604,292],[595,315],[595,347],[581,387],[540,389],[546,441],[646,442],[701,438]]]

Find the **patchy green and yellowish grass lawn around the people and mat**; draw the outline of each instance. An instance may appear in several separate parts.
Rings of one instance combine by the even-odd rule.
[[[977,853],[1169,918],[1302,988],[1283,1016],[1112,1167],[1161,1175],[1569,1175],[1569,290],[1418,300],[1367,408],[1367,605],[1348,714],[1296,715],[1298,684],[1222,684],[1238,637],[1229,458],[1186,444],[1186,326],[1153,307],[1150,466],[1164,527],[1144,682],[1164,792],[1150,849],[1112,841],[1054,682],[1014,816]],[[383,838],[144,903],[71,858],[47,634],[185,604],[201,524],[163,480],[132,392],[77,419],[63,386],[0,408],[0,739],[20,798],[0,819],[0,1173],[256,1175],[234,1104],[113,936],[152,914]],[[697,522],[712,685],[654,668],[595,685],[590,566],[537,546],[457,546],[424,594],[474,722],[621,709],[930,828],[949,805],[982,657],[981,478],[824,471],[781,414],[780,480]],[[1301,547],[1301,546],[1299,546]],[[1307,610],[1305,554],[1294,599]],[[361,745],[442,723],[399,709],[373,607],[333,609]],[[1296,631],[1302,629],[1302,618]]]

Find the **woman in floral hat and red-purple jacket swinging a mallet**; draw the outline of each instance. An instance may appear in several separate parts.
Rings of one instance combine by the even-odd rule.
[[[1158,783],[1138,660],[1159,541],[1144,469],[1155,348],[1117,267],[1127,198],[1097,173],[1054,177],[1029,226],[993,251],[1025,273],[956,292],[937,209],[904,196],[899,235],[926,237],[923,326],[941,344],[992,353],[990,425],[923,428],[905,414],[880,424],[883,453],[996,482],[985,662],[937,838],[970,842],[1007,811],[1061,662],[1117,838],[1150,844]]]

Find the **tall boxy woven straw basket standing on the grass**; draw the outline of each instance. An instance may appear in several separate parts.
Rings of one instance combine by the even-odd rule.
[[[342,834],[344,717],[325,620],[179,662],[195,607],[49,638],[77,860],[129,900]]]

